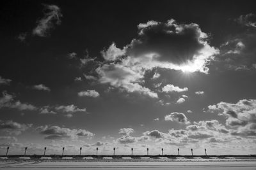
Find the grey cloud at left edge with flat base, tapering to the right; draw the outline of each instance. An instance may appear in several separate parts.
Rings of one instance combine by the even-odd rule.
[[[21,103],[14,101],[14,96],[8,94],[6,91],[2,92],[3,97],[0,97],[0,108],[15,108],[18,110],[36,110],[37,108],[32,104]]]

